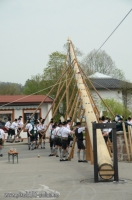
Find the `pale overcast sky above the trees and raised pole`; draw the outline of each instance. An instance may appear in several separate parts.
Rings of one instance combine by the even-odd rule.
[[[84,56],[98,49],[132,0],[0,0],[0,81],[25,84],[70,37]],[[101,48],[132,82],[132,12]]]

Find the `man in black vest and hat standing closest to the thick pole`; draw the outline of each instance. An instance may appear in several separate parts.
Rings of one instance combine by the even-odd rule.
[[[83,131],[85,130],[86,127],[81,127],[81,122],[76,123],[76,129],[75,129],[75,135],[77,138],[77,156],[78,156],[78,162],[87,162],[86,161],[86,148],[83,143]],[[81,149],[83,150],[83,160],[80,159],[80,151]]]

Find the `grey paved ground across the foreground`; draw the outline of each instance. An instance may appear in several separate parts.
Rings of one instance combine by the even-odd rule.
[[[11,146],[19,152],[18,164],[16,160],[15,164],[8,163]],[[49,157],[49,152],[48,143],[46,149],[33,151],[25,143],[6,144],[4,157],[0,157],[0,199],[53,199],[44,195],[55,194],[58,200],[132,200],[132,163],[119,163],[119,178],[125,182],[94,183],[93,165],[78,163],[76,154],[72,161],[60,162],[59,158]],[[16,198],[26,194],[26,190],[30,197],[31,191],[43,197]],[[16,197],[6,197],[9,192]]]

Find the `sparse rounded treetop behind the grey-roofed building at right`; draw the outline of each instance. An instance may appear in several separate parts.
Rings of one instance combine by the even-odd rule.
[[[124,73],[116,68],[115,63],[111,57],[105,52],[100,50],[91,51],[82,60],[82,67],[86,74],[89,76],[95,72],[100,72],[109,75],[113,78],[124,79]]]

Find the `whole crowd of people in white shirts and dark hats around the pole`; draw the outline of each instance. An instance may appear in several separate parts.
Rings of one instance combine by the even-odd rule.
[[[111,120],[108,117],[102,116],[99,118],[99,123],[111,123],[115,122],[117,131],[122,130],[122,121],[123,117],[120,115],[116,115],[114,120]],[[128,117],[125,121],[126,125],[132,126],[132,118]],[[15,119],[11,123],[11,119],[8,118],[8,121],[5,124],[7,139],[6,142],[20,142],[23,139],[20,137],[20,132],[23,128],[24,124],[22,121],[22,116],[19,116],[18,119]],[[45,139],[46,139],[46,131],[47,125],[45,125],[45,119],[40,118],[35,119],[32,123],[31,119],[28,119],[27,124],[25,126],[27,130],[27,138],[28,138],[28,150],[34,150],[38,148],[40,145],[41,149],[45,149]],[[54,122],[53,119],[50,121],[49,125],[49,144],[50,144],[50,154],[49,156],[60,157],[60,161],[68,161],[69,148],[72,145],[73,137],[76,136],[77,139],[77,156],[78,162],[87,162],[86,161],[86,147],[83,143],[83,132],[85,131],[86,126],[81,126],[80,122],[77,122],[74,126],[71,125],[71,119],[67,121],[59,121]],[[112,129],[102,129],[102,135],[104,137],[105,142],[107,143],[108,138],[112,142]],[[0,129],[0,156],[2,154],[2,146],[5,141],[5,132]],[[38,144],[39,143],[39,144]],[[83,158],[80,158],[80,151],[83,150]]]

